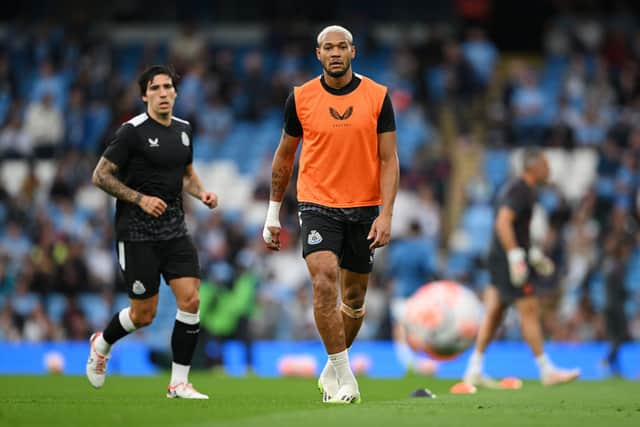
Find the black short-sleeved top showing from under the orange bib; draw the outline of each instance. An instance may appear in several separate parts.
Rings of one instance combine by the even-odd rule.
[[[362,79],[356,74],[353,75],[351,81],[340,89],[334,89],[327,85],[324,80],[324,76],[320,77],[320,83],[327,92],[333,95],[347,95],[360,85]],[[396,120],[393,112],[393,104],[389,93],[384,97],[382,102],[382,108],[380,109],[380,115],[378,116],[377,133],[393,132],[396,130]],[[291,136],[302,136],[302,124],[298,118],[296,112],[296,100],[293,96],[293,92],[289,94],[284,106],[284,131]],[[321,206],[314,203],[302,202],[298,204],[300,212],[316,212],[321,215],[325,215],[334,218],[339,221],[348,222],[368,222],[378,216],[377,206],[367,206],[360,208],[330,208],[327,206]]]

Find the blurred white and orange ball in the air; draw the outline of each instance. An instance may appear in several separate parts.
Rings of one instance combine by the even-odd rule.
[[[482,303],[465,286],[453,281],[427,283],[407,300],[403,319],[407,343],[434,359],[452,359],[473,344],[482,312]]]

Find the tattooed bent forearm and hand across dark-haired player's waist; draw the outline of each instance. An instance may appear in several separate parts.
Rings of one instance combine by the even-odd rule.
[[[93,184],[102,189],[104,192],[111,194],[125,202],[133,203],[140,206],[140,208],[155,217],[159,217],[164,213],[167,208],[167,204],[157,197],[145,196],[136,190],[127,187],[122,181],[116,178],[115,174],[118,172],[118,166],[106,159],[100,157],[98,165],[93,171],[93,177],[91,181]]]

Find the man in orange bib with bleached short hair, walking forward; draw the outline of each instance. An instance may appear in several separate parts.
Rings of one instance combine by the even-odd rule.
[[[387,88],[351,69],[356,56],[351,33],[332,25],[317,41],[323,72],[295,87],[285,104],[262,234],[270,249],[280,249],[280,204],[302,139],[297,186],[302,255],[313,285],[316,326],[329,355],[318,387],[323,402],[359,403],[347,349],[364,318],[373,252],[391,237],[399,174],[396,126]]]

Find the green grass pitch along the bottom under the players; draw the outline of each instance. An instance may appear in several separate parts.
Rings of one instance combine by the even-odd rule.
[[[84,377],[0,376],[0,426],[640,426],[640,382],[449,394],[453,381],[360,378],[361,405],[321,403],[314,379],[228,378],[196,373],[208,401],[169,400],[168,374],[113,376],[94,390]],[[412,398],[427,387],[436,399]]]

